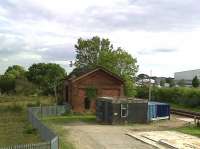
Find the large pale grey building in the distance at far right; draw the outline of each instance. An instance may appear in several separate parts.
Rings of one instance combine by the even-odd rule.
[[[200,69],[174,73],[175,81],[178,82],[180,80],[184,80],[186,86],[192,86],[192,80],[195,76],[200,78]]]

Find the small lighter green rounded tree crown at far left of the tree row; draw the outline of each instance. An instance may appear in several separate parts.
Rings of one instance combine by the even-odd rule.
[[[13,65],[8,67],[4,75],[8,76],[10,79],[16,79],[16,78],[24,78],[25,74],[26,71],[22,66]]]

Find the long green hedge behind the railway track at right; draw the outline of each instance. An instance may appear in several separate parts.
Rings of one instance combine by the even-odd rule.
[[[147,86],[137,87],[138,98],[148,98]],[[152,88],[151,99],[153,101],[174,103],[188,107],[200,107],[200,89],[189,87]]]

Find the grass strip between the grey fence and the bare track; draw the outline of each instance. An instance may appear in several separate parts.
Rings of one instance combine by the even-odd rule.
[[[56,132],[60,137],[61,149],[73,149],[74,146],[68,139],[68,130],[64,128],[66,124],[73,122],[95,123],[95,115],[67,115],[52,116],[43,118],[43,122]]]

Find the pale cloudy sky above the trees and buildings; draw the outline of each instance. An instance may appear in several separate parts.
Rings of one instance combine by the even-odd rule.
[[[110,39],[138,73],[173,77],[200,68],[199,0],[0,0],[0,74],[58,63],[68,72],[77,39]]]

